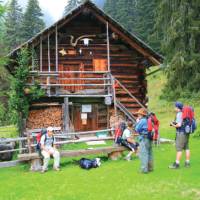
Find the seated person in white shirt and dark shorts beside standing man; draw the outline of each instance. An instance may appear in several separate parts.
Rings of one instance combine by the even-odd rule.
[[[122,135],[122,145],[128,147],[131,151],[126,156],[126,160],[131,160],[131,155],[137,153],[139,144],[133,138],[133,123],[129,121],[127,123],[127,128],[124,130]]]

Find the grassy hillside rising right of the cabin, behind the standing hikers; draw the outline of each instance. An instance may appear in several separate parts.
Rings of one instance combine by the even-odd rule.
[[[154,69],[152,69],[154,70]],[[149,73],[149,72],[148,72]],[[197,124],[200,124],[200,100],[199,99],[174,99],[174,102],[168,102],[160,99],[162,89],[166,83],[166,76],[163,71],[150,75],[148,81],[148,96],[149,96],[149,109],[155,112],[160,120],[160,134],[161,137],[174,138],[174,129],[169,126],[169,123],[174,120],[174,102],[179,100],[186,105],[191,105],[195,109],[195,118]],[[199,134],[198,128],[195,134]]]

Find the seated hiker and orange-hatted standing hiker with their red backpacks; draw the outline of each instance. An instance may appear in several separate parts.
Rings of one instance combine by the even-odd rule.
[[[130,149],[125,157],[126,160],[130,161],[133,153],[139,155],[141,173],[148,173],[153,171],[152,141],[158,139],[159,121],[154,113],[148,113],[145,108],[139,109],[135,115],[137,115],[135,127],[131,121],[127,122],[125,129],[124,122],[118,124],[115,129],[115,142]],[[155,134],[152,134],[153,131]]]

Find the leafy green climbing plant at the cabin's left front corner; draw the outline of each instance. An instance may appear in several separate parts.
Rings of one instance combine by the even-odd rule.
[[[30,53],[27,49],[22,49],[18,54],[18,65],[15,68],[9,94],[10,118],[13,123],[17,123],[20,132],[22,131],[22,121],[28,116],[30,103],[44,94],[37,84],[32,87],[26,86],[30,73],[29,63]],[[25,93],[27,89],[30,91],[29,94]]]

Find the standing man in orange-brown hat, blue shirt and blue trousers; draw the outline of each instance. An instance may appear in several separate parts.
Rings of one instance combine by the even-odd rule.
[[[148,133],[147,122],[148,113],[145,108],[141,108],[136,114],[138,115],[138,119],[135,126],[135,131],[139,134],[139,157],[141,161],[141,172],[148,173],[153,171],[152,139]]]

